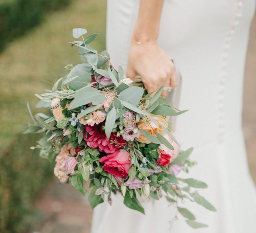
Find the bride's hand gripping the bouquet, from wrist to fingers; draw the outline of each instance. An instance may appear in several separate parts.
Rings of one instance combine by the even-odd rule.
[[[175,88],[178,85],[173,62],[157,44],[131,42],[126,76],[132,80],[140,78],[148,92],[161,86]],[[166,97],[168,91],[161,95]]]

